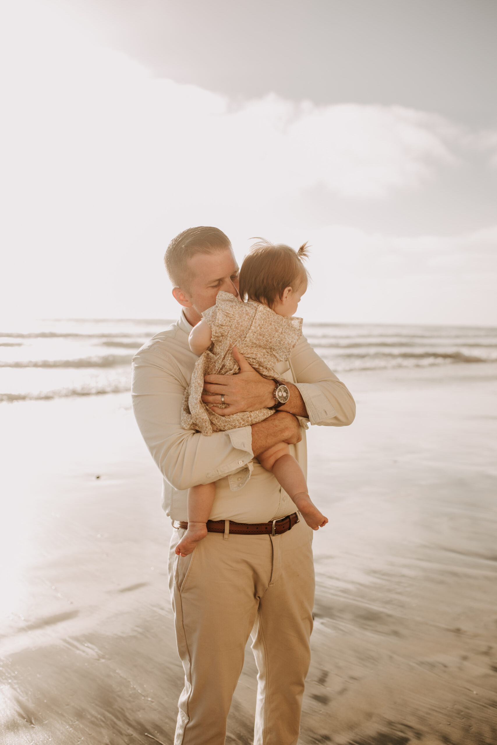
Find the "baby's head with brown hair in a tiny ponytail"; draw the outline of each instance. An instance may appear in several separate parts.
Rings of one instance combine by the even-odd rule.
[[[285,244],[259,240],[241,264],[241,299],[262,302],[280,316],[293,316],[307,290],[309,275],[303,265],[307,258],[306,243],[295,251]]]

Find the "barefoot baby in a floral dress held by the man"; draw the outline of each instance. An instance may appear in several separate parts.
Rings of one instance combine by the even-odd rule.
[[[209,436],[215,431],[262,422],[274,409],[244,411],[221,416],[202,402],[203,377],[208,374],[235,375],[238,364],[232,347],[244,355],[252,367],[279,385],[277,362],[290,358],[291,350],[302,334],[302,319],[295,318],[297,306],[306,292],[308,273],[303,266],[306,244],[298,251],[266,241],[255,244],[240,270],[240,296],[219,292],[216,304],[205,311],[192,329],[190,349],[200,355],[185,391],[181,424]],[[276,390],[276,389],[275,389]],[[221,404],[224,408],[227,404]],[[277,407],[277,404],[276,404]],[[287,443],[278,443],[258,455],[259,463],[275,475],[280,486],[294,501],[306,523],[317,530],[328,522],[311,502],[306,479]],[[188,492],[188,530],[180,539],[176,553],[191,554],[207,534],[206,522],[212,510],[215,482],[192,486]]]

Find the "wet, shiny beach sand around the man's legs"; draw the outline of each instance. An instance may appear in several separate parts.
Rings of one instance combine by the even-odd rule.
[[[355,423],[311,428],[301,745],[497,744],[496,373],[349,373]],[[1,743],[171,744],[171,525],[128,397],[3,405],[0,448]],[[255,693],[247,648],[228,744]]]

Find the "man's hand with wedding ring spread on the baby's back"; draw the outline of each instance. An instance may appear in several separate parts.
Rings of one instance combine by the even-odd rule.
[[[206,375],[203,387],[208,394],[203,394],[202,401],[206,404],[220,404],[221,395],[224,396],[227,408],[211,406],[212,411],[221,416],[273,406],[276,403],[273,397],[274,381],[259,375],[235,346],[232,354],[238,362],[240,372],[238,375]]]

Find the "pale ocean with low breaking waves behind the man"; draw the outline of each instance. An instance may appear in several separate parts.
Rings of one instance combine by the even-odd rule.
[[[0,402],[97,396],[130,389],[130,363],[171,320],[39,320],[0,327]],[[305,323],[304,333],[339,376],[497,361],[497,329]]]

